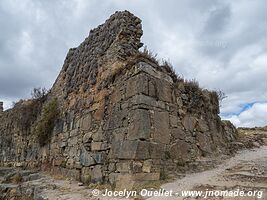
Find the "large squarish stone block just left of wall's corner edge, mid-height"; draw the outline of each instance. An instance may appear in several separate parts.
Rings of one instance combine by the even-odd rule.
[[[129,118],[130,125],[127,138],[129,140],[149,139],[151,134],[149,111],[144,109],[133,110]]]

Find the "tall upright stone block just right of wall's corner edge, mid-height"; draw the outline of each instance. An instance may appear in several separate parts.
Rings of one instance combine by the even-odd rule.
[[[154,118],[154,122],[153,122],[154,141],[163,143],[163,144],[169,144],[170,142],[169,113],[155,111],[153,118]]]

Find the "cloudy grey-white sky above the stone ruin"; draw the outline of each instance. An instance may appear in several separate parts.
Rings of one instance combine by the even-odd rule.
[[[50,88],[71,47],[117,10],[142,19],[142,42],[176,73],[227,98],[221,117],[267,125],[265,0],[1,0],[0,100],[5,109]]]

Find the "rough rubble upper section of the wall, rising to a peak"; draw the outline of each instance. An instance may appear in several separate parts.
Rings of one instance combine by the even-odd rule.
[[[111,15],[104,24],[91,30],[79,47],[69,50],[54,87],[63,86],[64,98],[72,92],[89,92],[105,67],[138,53],[142,34],[141,20],[130,12]]]

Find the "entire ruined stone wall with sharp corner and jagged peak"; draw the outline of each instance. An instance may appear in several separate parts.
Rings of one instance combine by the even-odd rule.
[[[142,34],[116,12],[70,49],[48,94],[0,115],[0,164],[131,188],[227,152],[236,129],[216,92],[140,52]]]

